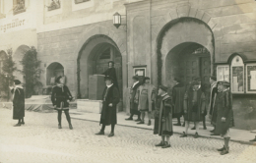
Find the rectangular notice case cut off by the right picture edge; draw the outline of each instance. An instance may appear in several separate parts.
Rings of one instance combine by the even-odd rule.
[[[256,93],[256,63],[246,65],[246,92]]]

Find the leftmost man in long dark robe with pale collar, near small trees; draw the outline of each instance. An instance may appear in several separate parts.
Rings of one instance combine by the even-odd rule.
[[[24,88],[19,80],[14,80],[14,87],[11,88],[13,94],[13,119],[18,120],[18,124],[15,127],[25,125],[25,93]]]

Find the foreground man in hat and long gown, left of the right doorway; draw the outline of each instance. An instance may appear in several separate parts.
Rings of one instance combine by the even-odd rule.
[[[167,89],[168,87],[160,85],[159,95],[161,96],[161,101],[159,118],[159,136],[161,136],[161,141],[159,144],[156,144],[156,146],[161,146],[161,148],[170,147],[169,137],[173,135],[172,105],[171,98],[167,94]]]

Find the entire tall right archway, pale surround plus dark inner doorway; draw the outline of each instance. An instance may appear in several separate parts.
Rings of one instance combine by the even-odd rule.
[[[214,75],[215,44],[212,29],[195,18],[178,18],[166,24],[157,38],[158,82],[173,86],[173,77],[184,82]],[[200,52],[201,50],[201,52]]]

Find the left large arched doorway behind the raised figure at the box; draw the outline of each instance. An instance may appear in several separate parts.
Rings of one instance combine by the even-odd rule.
[[[102,74],[108,61],[115,62],[119,93],[122,96],[122,56],[116,43],[106,35],[89,38],[78,56],[78,98],[89,98],[89,76]]]

